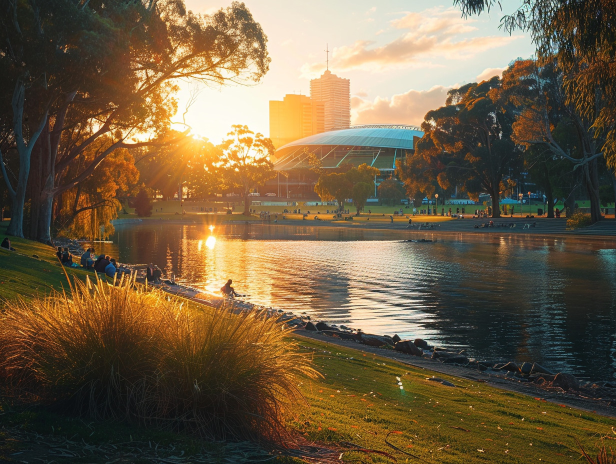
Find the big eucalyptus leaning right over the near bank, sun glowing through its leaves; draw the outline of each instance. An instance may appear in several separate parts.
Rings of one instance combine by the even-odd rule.
[[[31,179],[39,240],[49,238],[54,198],[86,181],[107,155],[169,141],[164,134],[177,110],[173,95],[180,80],[222,86],[258,81],[269,68],[267,37],[238,2],[212,15],[193,14],[182,0],[4,4],[7,18],[14,18],[7,28],[43,14],[71,31],[57,37],[49,32],[57,43],[54,51],[67,55],[67,62],[54,75],[53,81],[62,85],[50,100],[49,117],[43,118],[40,131],[43,169]],[[84,150],[103,136],[107,145],[84,162]],[[79,169],[67,175],[74,163]]]

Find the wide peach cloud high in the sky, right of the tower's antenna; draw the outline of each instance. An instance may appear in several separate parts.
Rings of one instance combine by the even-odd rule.
[[[416,67],[417,62],[441,57],[464,60],[490,49],[506,46],[521,38],[515,36],[469,36],[477,31],[474,20],[464,20],[455,8],[435,8],[421,13],[407,12],[391,22],[399,31],[389,43],[378,45],[372,40],[358,40],[334,49],[331,67],[336,70],[373,72]],[[302,75],[312,76],[322,69],[321,63],[306,63]]]

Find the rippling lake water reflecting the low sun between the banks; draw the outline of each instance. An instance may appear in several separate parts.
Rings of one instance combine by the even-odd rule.
[[[113,245],[97,253],[158,264],[209,291],[233,279],[252,303],[477,359],[616,377],[616,240],[411,234],[148,222],[116,226]],[[401,242],[421,237],[436,241]]]

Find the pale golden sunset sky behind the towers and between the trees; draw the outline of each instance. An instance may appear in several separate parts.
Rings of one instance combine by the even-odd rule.
[[[230,5],[185,2],[205,14]],[[217,89],[186,83],[179,94],[174,122],[182,121],[190,94],[197,92],[186,123],[214,143],[232,124],[269,136],[269,100],[293,93],[309,96],[310,79],[325,71],[326,44],[330,71],[351,79],[351,124],[419,125],[428,110],[444,104],[449,88],[500,74],[512,60],[534,52],[529,35],[510,36],[498,29],[503,15],[498,7],[464,20],[452,1],[245,3],[268,38],[272,63],[267,75],[253,86]]]

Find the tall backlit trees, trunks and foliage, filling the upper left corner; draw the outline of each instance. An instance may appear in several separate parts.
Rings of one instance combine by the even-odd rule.
[[[182,0],[3,5],[0,92],[4,102],[15,97],[17,104],[0,107],[0,123],[12,126],[9,138],[20,155],[18,191],[10,192],[19,201],[20,214],[12,218],[18,235],[30,151],[43,128],[49,130],[41,134],[36,156],[44,169],[30,182],[33,204],[41,205],[40,214],[32,210],[41,240],[49,235],[54,198],[86,181],[107,155],[170,143],[166,134],[180,79],[222,86],[259,81],[269,70],[267,36],[240,2],[211,15],[187,11]],[[27,144],[24,115],[34,128]],[[134,134],[153,135],[129,142],[144,138]],[[84,150],[99,139],[104,146],[85,159]]]

